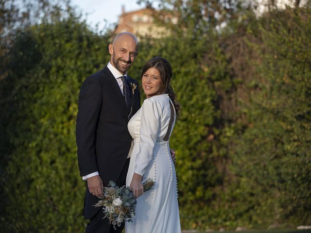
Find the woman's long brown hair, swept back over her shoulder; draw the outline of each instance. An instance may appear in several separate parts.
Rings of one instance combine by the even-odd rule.
[[[148,69],[153,68],[153,67],[159,71],[161,82],[163,84],[163,87],[155,95],[159,95],[163,92],[168,94],[169,97],[171,98],[172,102],[173,102],[173,105],[174,105],[174,108],[176,111],[176,116],[179,116],[180,105],[176,101],[176,96],[175,96],[175,93],[173,91],[173,87],[171,86],[171,78],[173,75],[173,71],[172,71],[172,67],[171,67],[170,63],[162,57],[154,57],[151,60],[149,60],[145,64],[145,66],[142,68],[142,72],[141,72],[140,77],[142,77]]]

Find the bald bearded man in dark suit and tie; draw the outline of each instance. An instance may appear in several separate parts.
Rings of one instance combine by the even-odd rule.
[[[138,82],[126,71],[138,55],[138,40],[132,33],[118,34],[108,46],[107,66],[86,78],[79,94],[76,125],[78,165],[86,180],[83,215],[90,222],[86,233],[121,233],[103,218],[103,209],[94,207],[103,197],[109,181],[125,184],[127,158],[132,138],[127,130],[129,119],[140,107]]]

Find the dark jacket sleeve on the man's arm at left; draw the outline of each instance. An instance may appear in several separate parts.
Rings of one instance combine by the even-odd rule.
[[[86,78],[80,89],[76,124],[80,176],[98,171],[95,139],[102,95],[101,83],[94,77]]]

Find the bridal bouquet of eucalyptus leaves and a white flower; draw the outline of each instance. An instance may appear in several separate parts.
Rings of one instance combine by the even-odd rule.
[[[150,178],[143,183],[144,192],[150,190],[155,182]],[[108,187],[104,187],[104,198],[98,201],[94,206],[103,206],[104,217],[109,219],[109,223],[116,230],[116,225],[121,226],[122,222],[132,222],[135,217],[135,208],[137,201],[133,197],[129,187],[119,187],[113,181],[110,181]]]

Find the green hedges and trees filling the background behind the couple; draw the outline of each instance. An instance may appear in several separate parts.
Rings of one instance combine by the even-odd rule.
[[[86,225],[77,99],[108,62],[113,33],[51,2],[38,0],[43,13],[29,8],[23,21],[0,1],[3,232]],[[311,4],[271,2],[259,15],[246,1],[159,0],[154,17],[169,34],[140,36],[129,74],[139,80],[148,59],[168,59],[182,107],[170,145],[183,229],[311,224]]]

